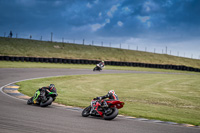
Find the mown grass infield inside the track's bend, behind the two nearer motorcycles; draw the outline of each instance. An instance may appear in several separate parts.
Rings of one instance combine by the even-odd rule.
[[[200,125],[200,75],[100,74],[36,79],[17,83],[19,91],[33,96],[50,83],[56,85],[56,102],[86,107],[92,98],[114,89],[125,102],[120,114]]]

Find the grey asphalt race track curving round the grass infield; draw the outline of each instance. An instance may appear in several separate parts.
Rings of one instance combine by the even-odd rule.
[[[100,73],[130,73],[105,70]],[[132,71],[135,73],[134,71]],[[19,80],[58,75],[99,74],[91,70],[0,68],[0,87]],[[89,103],[88,103],[89,104]],[[56,106],[29,106],[25,100],[0,92],[0,133],[199,133],[199,128],[117,117],[106,121],[82,117],[80,111]]]

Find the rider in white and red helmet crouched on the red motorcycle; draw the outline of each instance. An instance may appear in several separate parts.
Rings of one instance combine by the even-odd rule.
[[[101,101],[102,99],[106,99],[106,98],[108,98],[109,100],[119,100],[114,90],[110,90],[108,94],[106,94],[105,96],[96,97],[94,99]],[[106,101],[103,101],[103,102],[101,101],[100,104],[101,104],[101,107],[108,107]]]

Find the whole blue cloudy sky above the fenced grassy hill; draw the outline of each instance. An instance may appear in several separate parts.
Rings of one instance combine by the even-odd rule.
[[[200,0],[0,0],[0,36],[10,30],[199,59]]]

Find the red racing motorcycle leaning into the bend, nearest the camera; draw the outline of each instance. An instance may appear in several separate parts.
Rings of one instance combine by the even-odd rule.
[[[101,106],[104,103],[106,106]],[[124,102],[119,100],[96,100],[91,101],[91,105],[82,111],[83,117],[101,116],[105,120],[112,120],[118,115],[118,109],[124,106]]]

